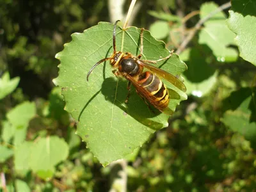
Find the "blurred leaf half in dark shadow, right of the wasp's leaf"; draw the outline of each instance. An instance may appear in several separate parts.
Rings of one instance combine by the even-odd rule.
[[[209,93],[217,81],[217,72],[209,66],[198,49],[186,49],[180,54],[180,59],[186,61],[189,68],[184,72],[184,83],[187,94],[202,97]]]

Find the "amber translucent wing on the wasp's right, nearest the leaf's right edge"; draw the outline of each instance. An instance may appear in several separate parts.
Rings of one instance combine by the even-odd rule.
[[[186,86],[178,79],[177,77],[173,76],[172,74],[166,72],[165,70],[162,70],[161,68],[154,67],[152,65],[149,65],[148,63],[141,61],[141,60],[136,60],[138,64],[142,65],[143,67],[148,68],[152,72],[155,72],[157,76],[160,76],[170,83],[172,83],[174,86],[179,88],[179,90],[182,90],[182,92],[186,92]]]

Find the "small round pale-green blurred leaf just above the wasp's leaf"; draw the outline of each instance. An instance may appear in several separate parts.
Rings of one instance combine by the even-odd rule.
[[[170,31],[168,22],[161,20],[158,20],[151,24],[149,30],[152,36],[159,39],[166,38]]]

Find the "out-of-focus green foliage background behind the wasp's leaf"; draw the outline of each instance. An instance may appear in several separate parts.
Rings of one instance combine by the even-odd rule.
[[[233,10],[241,10],[237,6],[246,2],[236,1]],[[173,49],[183,39],[175,31],[181,27],[176,13],[187,15],[205,1],[184,1],[183,6],[163,0],[142,3],[134,25],[148,29],[154,24],[154,30],[161,21],[165,33],[159,37]],[[148,14],[150,10],[154,12]],[[199,19],[192,17],[187,27]],[[77,136],[76,122],[63,109],[61,90],[52,84],[59,64],[54,56],[70,35],[108,20],[107,1],[0,1],[0,191],[109,190],[111,166],[102,167]],[[204,37],[196,35],[191,49],[180,54],[188,64],[184,76],[190,96],[170,118],[169,127],[157,131],[129,158],[128,191],[256,188],[256,68],[242,58],[221,60]],[[223,46],[238,52],[231,44]]]

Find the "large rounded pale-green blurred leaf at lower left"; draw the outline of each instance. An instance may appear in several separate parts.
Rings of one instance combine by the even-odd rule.
[[[29,166],[42,179],[52,177],[56,164],[67,159],[68,144],[57,136],[40,139],[31,147]]]

